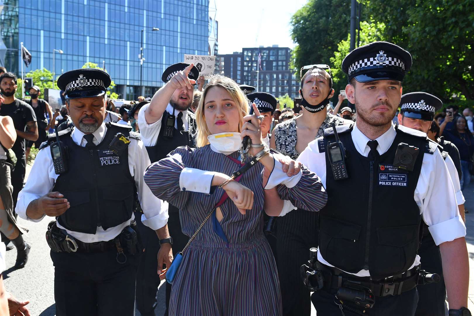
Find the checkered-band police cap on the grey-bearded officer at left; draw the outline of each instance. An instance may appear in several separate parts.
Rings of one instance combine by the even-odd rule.
[[[110,81],[109,74],[101,69],[81,68],[60,75],[57,84],[66,99],[79,99],[104,95]]]

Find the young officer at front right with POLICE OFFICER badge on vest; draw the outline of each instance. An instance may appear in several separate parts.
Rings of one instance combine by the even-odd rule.
[[[394,127],[401,82],[411,56],[399,46],[374,42],[349,53],[349,102],[355,124],[336,127],[298,157],[328,192],[319,213],[317,270],[323,286],[311,297],[321,315],[414,315],[418,295],[420,222],[445,264],[450,315],[470,315],[465,225],[437,145],[425,133]],[[429,286],[429,285],[427,285]]]

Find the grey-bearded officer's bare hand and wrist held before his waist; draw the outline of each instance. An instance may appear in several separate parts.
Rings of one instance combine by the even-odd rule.
[[[67,211],[71,205],[59,192],[50,192],[28,204],[27,215],[31,219],[40,219],[43,215],[60,216]]]

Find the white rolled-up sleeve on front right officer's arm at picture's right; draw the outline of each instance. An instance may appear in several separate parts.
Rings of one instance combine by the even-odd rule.
[[[453,181],[438,149],[433,155],[424,155],[415,201],[437,245],[466,235]]]

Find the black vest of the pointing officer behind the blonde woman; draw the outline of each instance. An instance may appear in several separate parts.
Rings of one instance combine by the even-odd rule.
[[[152,163],[166,158],[170,152],[180,146],[189,146],[191,148],[196,147],[196,119],[194,113],[188,111],[188,130],[179,131],[174,128],[173,137],[164,136],[168,115],[170,114],[167,111],[164,111],[163,118],[161,119],[160,133],[158,134],[155,146],[146,147],[146,151],[148,151],[148,156]],[[169,204],[168,211],[178,212],[179,210],[174,205]]]

